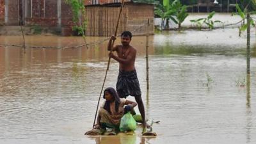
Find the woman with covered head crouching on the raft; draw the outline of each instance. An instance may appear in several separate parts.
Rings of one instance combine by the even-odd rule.
[[[137,103],[120,98],[114,88],[106,88],[103,98],[106,99],[106,101],[99,109],[95,128],[106,129],[106,127],[109,127],[113,128],[113,131],[118,132],[122,116],[127,111],[131,111]]]

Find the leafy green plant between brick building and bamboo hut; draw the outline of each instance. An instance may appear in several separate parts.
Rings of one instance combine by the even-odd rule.
[[[72,20],[75,24],[73,26],[73,31],[77,31],[78,35],[84,35],[86,31],[87,22],[85,19],[85,7],[84,1],[81,0],[65,0],[65,3],[69,4],[72,8]],[[81,15],[83,16],[83,21],[80,20]]]

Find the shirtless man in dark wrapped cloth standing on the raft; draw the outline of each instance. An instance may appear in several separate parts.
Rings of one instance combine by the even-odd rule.
[[[115,36],[111,36],[108,43],[108,51],[111,51],[111,49],[112,51],[116,51],[117,56],[113,54],[113,52],[109,52],[109,57],[119,63],[119,74],[116,83],[116,91],[119,97],[126,98],[128,95],[134,96],[141,113],[143,126],[148,127],[145,119],[143,101],[141,99],[140,84],[134,66],[136,49],[130,45],[131,38],[131,32],[124,31],[121,35],[122,45],[115,45],[114,47],[111,47],[113,40],[116,39]]]

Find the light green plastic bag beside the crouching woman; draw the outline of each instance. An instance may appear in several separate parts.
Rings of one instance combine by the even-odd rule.
[[[126,113],[121,118],[120,127],[119,127],[121,132],[135,131],[136,127],[137,127],[136,121],[134,120],[130,112]]]

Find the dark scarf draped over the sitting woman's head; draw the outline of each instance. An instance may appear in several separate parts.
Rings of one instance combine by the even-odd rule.
[[[119,108],[119,104],[120,104],[121,100],[120,100],[120,97],[118,96],[115,88],[111,88],[111,87],[106,88],[104,90],[104,94],[103,94],[104,99],[105,99],[105,92],[109,92],[114,97],[114,99],[115,99],[115,110],[116,110],[116,112],[118,112],[118,110],[119,110],[118,108]],[[108,111],[108,113],[111,113],[111,111],[110,111],[110,102],[109,101],[105,102],[104,109],[106,109]]]

